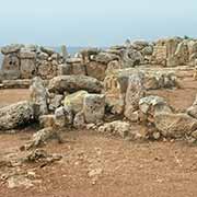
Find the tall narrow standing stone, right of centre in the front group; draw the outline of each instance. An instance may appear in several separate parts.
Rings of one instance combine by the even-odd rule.
[[[132,113],[139,109],[139,101],[144,96],[143,74],[132,74],[128,79],[128,88],[125,96],[124,115],[131,119]]]

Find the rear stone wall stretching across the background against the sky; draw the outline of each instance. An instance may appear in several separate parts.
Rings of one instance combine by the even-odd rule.
[[[104,81],[113,70],[197,66],[197,40],[181,37],[163,38],[154,43],[126,40],[124,45],[107,49],[84,48],[70,57],[66,46],[61,53],[36,45],[9,45],[1,48],[4,55],[0,80],[21,80],[40,77],[80,74]]]

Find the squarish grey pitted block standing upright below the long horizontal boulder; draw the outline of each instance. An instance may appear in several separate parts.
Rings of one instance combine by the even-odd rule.
[[[85,123],[97,123],[105,114],[105,95],[88,94],[83,101]]]

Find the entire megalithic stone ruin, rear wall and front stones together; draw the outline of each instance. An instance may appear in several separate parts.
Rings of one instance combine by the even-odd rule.
[[[164,99],[148,96],[149,90],[178,88],[173,69],[157,69],[153,65],[194,67],[196,40],[127,40],[106,50],[83,49],[74,57],[66,47],[61,54],[24,45],[7,46],[1,51],[2,86],[31,84],[31,99],[0,108],[0,130],[38,121],[44,129],[35,134],[37,141],[67,127],[129,139],[197,139],[197,101],[184,113],[176,113]],[[131,129],[134,124],[144,130]]]

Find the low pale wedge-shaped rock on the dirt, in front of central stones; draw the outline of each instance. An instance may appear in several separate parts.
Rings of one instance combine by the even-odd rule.
[[[99,127],[99,132],[108,132],[113,135],[118,135],[121,138],[127,137],[129,131],[130,131],[129,123],[121,120],[106,123],[103,126]]]

